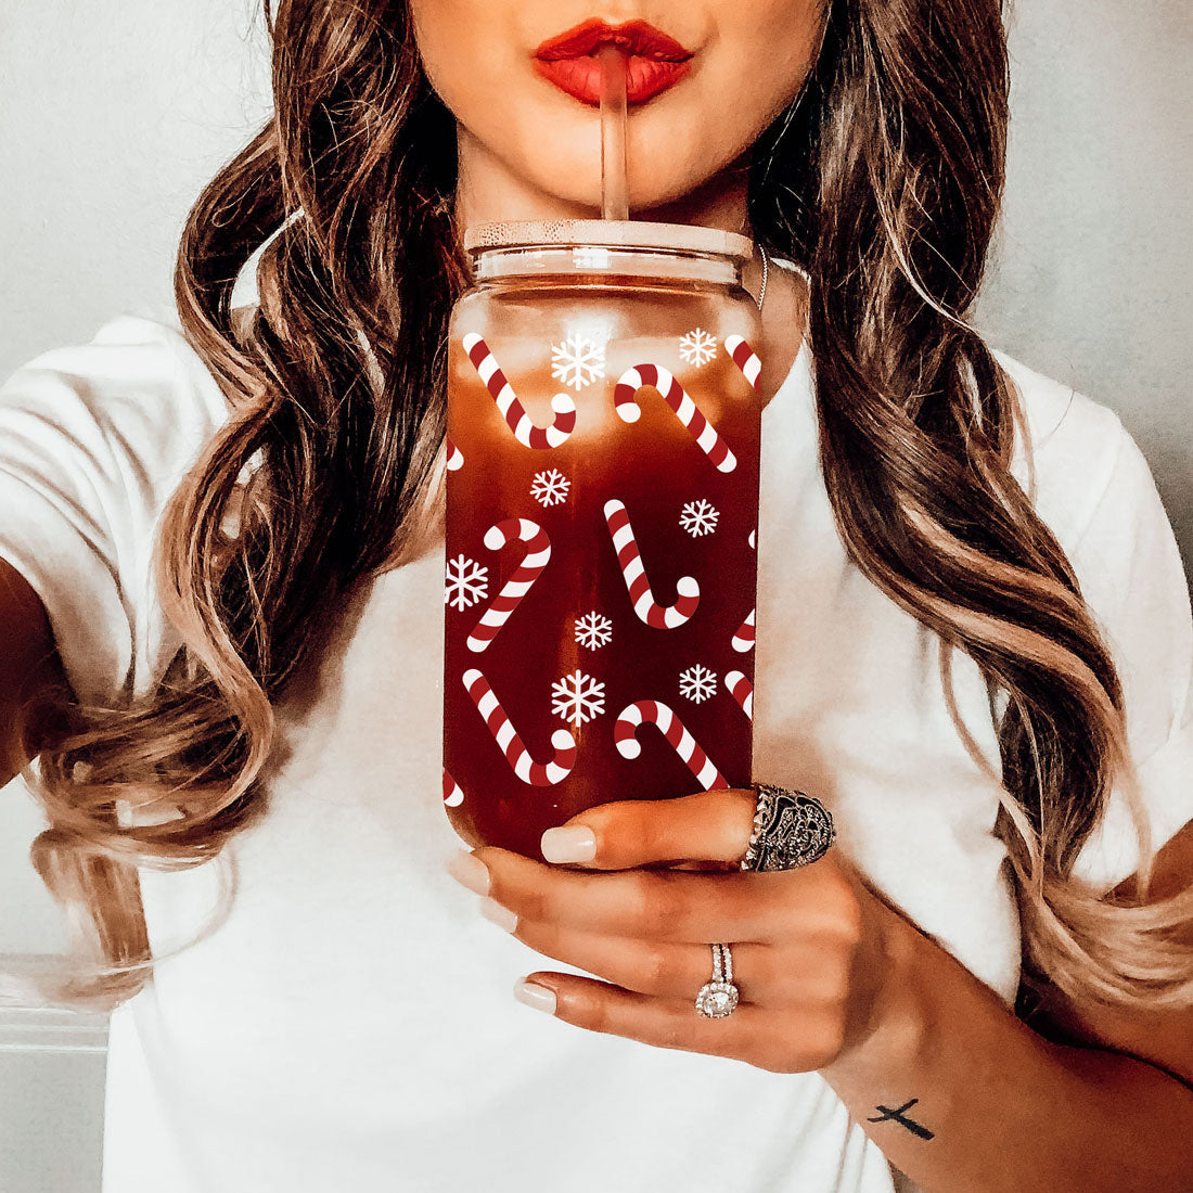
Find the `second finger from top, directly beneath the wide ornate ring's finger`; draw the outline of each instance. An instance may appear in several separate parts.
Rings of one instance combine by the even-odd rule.
[[[474,851],[488,895],[520,920],[639,940],[768,944],[815,933],[827,920],[816,866],[775,873],[622,870],[543,865],[493,846]]]

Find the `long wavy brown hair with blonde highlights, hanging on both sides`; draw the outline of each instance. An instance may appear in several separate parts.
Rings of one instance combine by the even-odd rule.
[[[404,0],[266,0],[274,113],[199,197],[175,274],[230,418],[157,544],[185,643],[152,694],[67,710],[30,774],[32,849],[72,910],[61,1002],[152,973],[138,866],[220,855],[265,808],[279,697],[356,586],[401,565],[441,476],[445,339],[468,285],[456,125]],[[810,278],[820,451],[857,567],[976,661],[1001,753],[1024,991],[1193,1001],[1191,897],[1071,873],[1117,784],[1123,690],[1070,561],[1010,474],[1018,395],[968,322],[1003,184],[999,0],[832,0],[805,86],[755,146],[756,239]],[[258,255],[259,304],[233,286]],[[981,760],[959,718],[958,731]],[[988,765],[983,761],[983,765]],[[1146,818],[1130,799],[1150,857]]]

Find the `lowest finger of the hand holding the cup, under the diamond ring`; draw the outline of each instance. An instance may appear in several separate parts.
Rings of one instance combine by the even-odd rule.
[[[552,990],[555,1018],[576,1027],[783,1073],[817,1068],[832,1044],[828,1037],[837,1031],[828,1018],[822,1025],[820,1016],[777,1016],[750,1003],[738,1003],[723,1019],[707,1019],[697,1012],[694,995],[654,999],[571,973],[536,972],[526,981]]]

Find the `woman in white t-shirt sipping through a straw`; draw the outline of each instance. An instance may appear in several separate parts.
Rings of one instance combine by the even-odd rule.
[[[614,8],[631,78],[675,76],[631,112],[635,216],[774,265],[755,777],[837,841],[730,872],[756,796],[713,791],[585,812],[550,861],[457,849],[459,234],[592,214],[588,67],[539,48],[594,13],[282,2],[276,118],[185,233],[186,341],[116,321],[0,403],[4,724],[106,963],[63,993],[116,1006],[105,1191],[1193,1187],[1193,622],[1118,420],[965,322],[999,5]]]

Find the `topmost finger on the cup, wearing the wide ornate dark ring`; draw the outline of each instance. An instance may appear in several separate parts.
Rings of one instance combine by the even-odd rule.
[[[543,834],[543,857],[594,870],[715,861],[736,869],[746,855],[758,799],[740,787],[674,799],[619,799],[588,808]],[[585,842],[582,829],[595,836]]]

